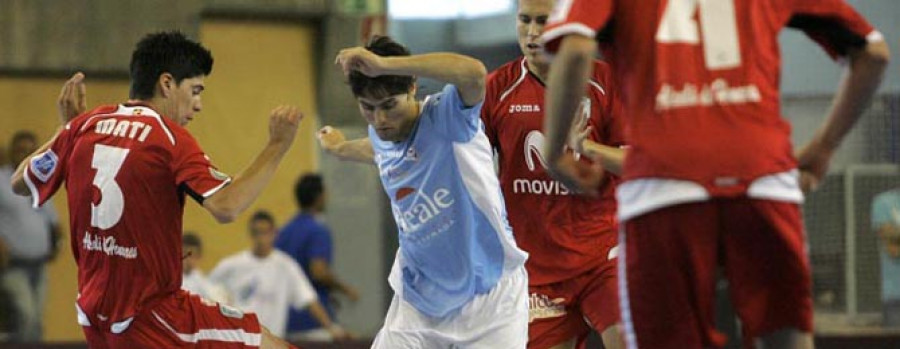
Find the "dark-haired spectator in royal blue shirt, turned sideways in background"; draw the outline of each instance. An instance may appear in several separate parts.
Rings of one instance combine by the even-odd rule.
[[[334,319],[333,293],[342,293],[353,302],[359,299],[359,294],[331,271],[331,231],[322,222],[326,202],[322,176],[312,173],[301,176],[294,186],[294,197],[300,213],[278,233],[275,247],[290,255],[312,278],[320,302]],[[327,329],[306,310],[290,312],[288,336],[292,340],[331,340]]]

